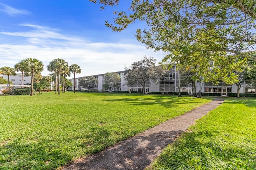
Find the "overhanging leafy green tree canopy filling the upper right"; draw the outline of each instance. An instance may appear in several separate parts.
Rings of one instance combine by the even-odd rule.
[[[120,2],[90,1],[104,6],[114,6]],[[166,52],[165,61],[169,59],[176,62],[186,60],[187,64],[203,63],[197,57],[202,51],[207,53],[203,55],[206,58],[203,64],[207,64],[210,59],[217,61],[216,63],[222,60],[235,61],[238,58],[256,59],[254,0],[131,0],[130,4],[127,7],[130,9],[129,13],[115,12],[117,17],[114,24],[107,21],[106,25],[114,31],[122,31],[136,20],[145,21],[149,27],[138,29],[136,37],[148,48]],[[227,59],[224,59],[226,56]],[[224,78],[226,82],[234,80],[234,77],[230,80],[226,77],[243,63],[236,63],[236,66],[229,66],[230,64],[234,65],[232,62],[225,65],[214,64],[214,77]],[[199,73],[206,74],[202,70],[197,72],[195,78],[199,77]],[[224,75],[223,72],[225,77],[221,76]]]

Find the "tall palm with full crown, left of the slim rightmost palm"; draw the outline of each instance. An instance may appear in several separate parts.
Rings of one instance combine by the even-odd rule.
[[[65,64],[66,64],[66,62],[64,59],[54,59],[47,66],[48,71],[54,71],[55,74],[58,74],[58,94],[60,94],[60,73]],[[56,78],[55,78],[55,80],[56,80]],[[57,89],[55,89],[55,94],[56,94],[56,91],[57,91]]]

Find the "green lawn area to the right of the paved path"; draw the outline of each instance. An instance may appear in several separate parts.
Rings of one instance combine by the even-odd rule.
[[[227,98],[164,149],[149,169],[255,170],[256,99]]]

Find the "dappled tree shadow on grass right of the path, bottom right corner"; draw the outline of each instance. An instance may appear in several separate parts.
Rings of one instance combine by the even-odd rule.
[[[207,136],[206,138],[204,136]],[[165,149],[157,164],[164,169],[255,169],[253,151],[243,146],[227,143],[228,136],[223,134],[223,143],[216,140],[210,131],[190,132]],[[204,140],[204,138],[206,140]],[[219,137],[218,137],[219,138]],[[154,165],[153,165],[154,166]],[[225,168],[226,167],[226,168]],[[154,167],[157,169],[157,167]],[[154,169],[153,168],[153,169]],[[158,167],[160,168],[160,167]]]

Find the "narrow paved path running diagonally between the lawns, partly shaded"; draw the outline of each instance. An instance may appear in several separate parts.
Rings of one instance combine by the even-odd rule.
[[[164,147],[193,125],[196,119],[206,115],[223,102],[222,98],[216,98],[208,104],[196,107],[183,115],[80,160],[64,170],[144,170],[160,155]]]

